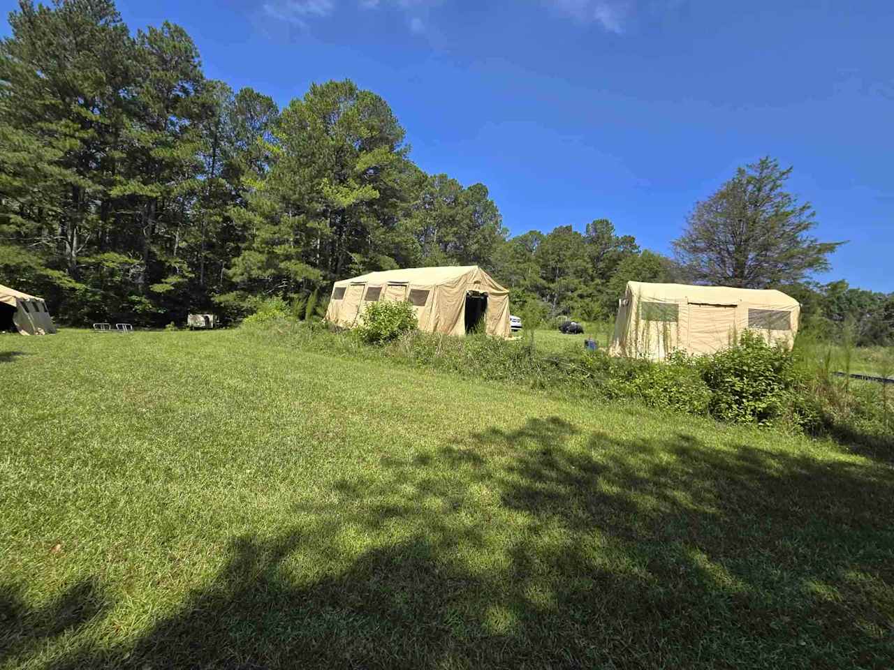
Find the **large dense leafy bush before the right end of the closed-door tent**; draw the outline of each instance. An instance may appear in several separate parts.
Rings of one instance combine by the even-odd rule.
[[[793,353],[768,345],[759,333],[743,331],[734,346],[696,364],[711,390],[710,412],[721,421],[810,426],[818,420]]]

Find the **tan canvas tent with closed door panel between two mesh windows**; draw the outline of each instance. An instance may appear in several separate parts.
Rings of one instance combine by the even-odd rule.
[[[795,340],[801,306],[777,290],[628,281],[611,353],[660,359],[676,349],[710,354],[750,329],[768,342]]]

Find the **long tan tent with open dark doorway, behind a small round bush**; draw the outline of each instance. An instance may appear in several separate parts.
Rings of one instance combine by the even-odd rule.
[[[509,291],[477,265],[369,272],[336,281],[326,321],[353,328],[376,300],[408,300],[420,331],[465,335],[483,324],[488,335],[510,334]]]

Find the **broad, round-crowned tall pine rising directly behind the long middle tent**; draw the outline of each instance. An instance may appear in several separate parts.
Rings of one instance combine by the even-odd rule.
[[[350,81],[313,85],[277,120],[271,163],[238,217],[249,239],[231,276],[249,292],[291,295],[397,264],[406,206],[403,129],[384,100]]]

